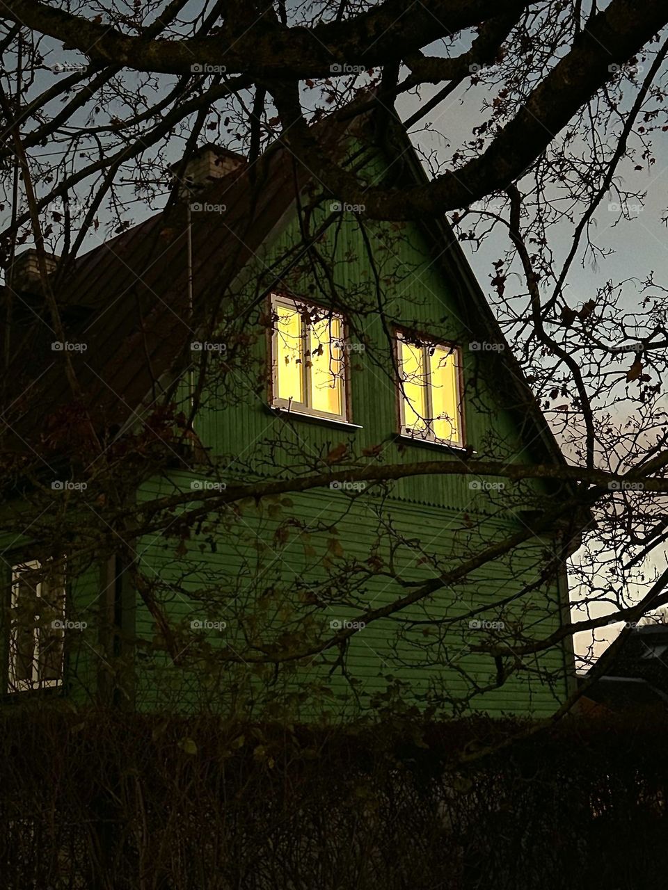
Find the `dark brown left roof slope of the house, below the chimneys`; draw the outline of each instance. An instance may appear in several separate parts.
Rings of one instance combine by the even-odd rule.
[[[241,168],[198,198],[226,211],[215,221],[211,214],[191,215],[195,303],[215,280],[233,277],[257,252],[295,198],[294,175],[291,156],[274,150],[258,165],[255,188]],[[160,386],[184,367],[196,339],[186,231],[185,206],[178,204],[81,256],[59,288],[59,299],[70,308],[65,316],[72,319],[68,341],[87,345],[81,356],[72,353],[87,408],[105,428],[124,424],[154,400]],[[17,389],[24,395],[5,409],[12,427],[5,447],[22,450],[26,441],[34,446],[45,417],[73,401],[52,350],[55,340],[50,325],[32,324],[28,343],[12,361],[13,395]]]

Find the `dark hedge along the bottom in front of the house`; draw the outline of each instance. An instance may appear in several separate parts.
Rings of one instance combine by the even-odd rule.
[[[668,718],[355,729],[89,712],[2,726],[7,890],[664,885]]]

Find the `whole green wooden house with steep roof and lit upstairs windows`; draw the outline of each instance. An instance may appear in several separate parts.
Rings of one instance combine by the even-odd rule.
[[[317,132],[424,177],[372,120]],[[15,263],[4,704],[550,713],[572,652],[514,650],[567,620],[576,525],[534,526],[569,491],[435,467],[563,458],[449,225],[365,220],[278,145],[173,174],[166,212],[48,258],[64,340]]]

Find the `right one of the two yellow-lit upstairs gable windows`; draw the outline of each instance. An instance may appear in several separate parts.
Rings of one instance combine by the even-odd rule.
[[[402,434],[463,445],[460,350],[399,334],[397,360]]]

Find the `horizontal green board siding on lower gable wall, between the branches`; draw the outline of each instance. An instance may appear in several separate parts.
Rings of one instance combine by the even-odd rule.
[[[184,488],[187,488],[186,481],[182,480]],[[145,487],[143,497],[164,496],[167,490],[171,490],[171,486],[156,481]],[[205,543],[205,536],[192,538],[187,544],[187,556],[181,559],[175,557],[173,540],[154,538],[143,542],[143,570],[157,583],[156,589],[164,601],[170,601],[168,608],[176,621],[181,620],[184,627],[193,619],[224,622],[224,633],[211,635],[212,640],[218,638],[214,644],[229,644],[233,651],[247,651],[241,637],[244,632],[248,634],[254,621],[257,621],[258,639],[264,643],[304,621],[310,621],[314,635],[324,639],[333,633],[332,620],[354,621],[364,607],[379,607],[405,593],[378,574],[376,578],[365,578],[354,595],[346,597],[353,604],[344,604],[328,582],[328,575],[336,576],[338,568],[343,570],[345,565],[354,577],[354,570],[368,566],[371,557],[379,571],[388,570],[387,539],[383,539],[382,531],[379,534],[379,522],[374,514],[374,507],[379,508],[379,503],[374,504],[374,498],[360,498],[352,509],[345,494],[329,490],[291,500],[292,506],[274,508],[273,515],[268,513],[273,505],[246,506],[224,539],[216,542],[215,552],[210,542]],[[457,565],[463,554],[475,552],[479,544],[479,530],[467,530],[461,524],[460,514],[452,511],[393,500],[385,513],[384,518],[393,523],[396,534],[408,540],[418,536],[423,539],[420,548],[406,546],[394,554],[395,570],[411,580],[434,576],[426,560],[436,559],[439,568],[446,570]],[[287,539],[279,537],[281,523],[292,514],[299,515],[311,526],[326,515],[333,522],[333,528],[307,535],[295,530]],[[509,530],[507,523],[485,523],[488,540]],[[332,541],[337,542],[336,546],[332,546]],[[265,692],[265,700],[267,695],[270,700],[277,700],[281,694],[292,692],[298,702],[300,693],[306,699],[310,684],[322,684],[327,692],[312,693],[300,704],[303,710],[297,708],[298,716],[313,716],[314,710],[324,707],[323,701],[330,706],[336,702],[335,710],[340,716],[368,709],[374,702],[379,706],[398,683],[400,700],[405,705],[424,704],[431,686],[432,691],[438,690],[452,698],[452,702],[444,704],[446,710],[456,710],[458,703],[462,706],[466,703],[471,678],[481,687],[493,685],[496,678],[494,660],[471,649],[489,638],[490,632],[471,627],[471,620],[502,619],[506,627],[512,627],[515,622],[518,628],[544,634],[558,627],[558,596],[554,589],[541,587],[537,593],[509,602],[502,610],[496,607],[502,597],[510,599],[524,584],[538,579],[543,546],[519,548],[511,557],[485,565],[464,582],[444,587],[423,603],[402,612],[404,620],[451,619],[452,625],[440,646],[436,646],[433,631],[428,636],[423,634],[423,626],[404,633],[396,617],[380,619],[354,635],[350,643],[345,667],[352,685],[340,670],[330,675],[338,656],[338,650],[331,650],[314,659],[305,659],[294,673],[281,670],[279,680]],[[329,560],[326,569],[322,566],[323,560]],[[183,573],[185,565],[187,575]],[[192,597],[188,595],[189,590]],[[271,596],[263,612],[268,590]],[[304,602],[309,591],[320,600],[317,605]],[[206,606],[202,600],[217,604]],[[489,608],[477,611],[485,605]],[[457,620],[474,610],[477,611],[475,618]],[[155,630],[151,616],[145,608],[140,608],[140,615],[139,629],[151,638]],[[470,708],[493,714],[550,713],[565,694],[563,652],[555,648],[541,659],[530,657],[525,659],[525,667],[527,673],[510,679],[493,692],[474,697],[469,702]],[[198,678],[190,668],[179,671],[167,667],[167,660],[163,661],[163,668],[160,671],[159,666],[151,664],[144,673],[138,698],[150,707],[160,707],[165,700],[170,702],[170,707],[174,707],[175,702],[183,706],[184,701],[197,700],[208,706],[217,702],[218,707],[233,709],[229,693],[219,694],[220,687],[226,688],[232,674],[238,675],[240,682],[244,675],[248,679],[248,669],[243,667],[221,667],[219,686],[213,682],[210,670],[205,672],[207,676]],[[552,686],[545,682],[546,672],[552,675]],[[162,683],[167,684],[164,690]],[[359,694],[359,702],[355,700],[352,686]],[[261,697],[259,689],[256,694]]]

